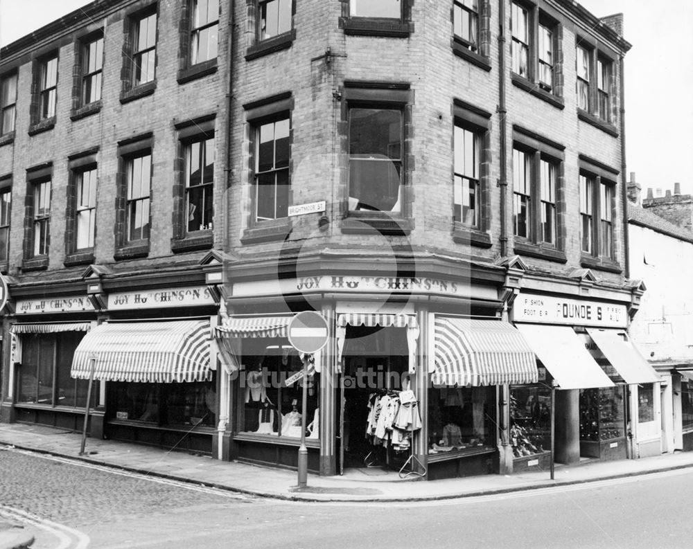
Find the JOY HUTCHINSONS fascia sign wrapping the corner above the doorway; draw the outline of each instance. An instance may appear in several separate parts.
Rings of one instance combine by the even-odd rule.
[[[281,280],[236,282],[234,297],[258,295],[309,294],[316,291],[378,294],[444,294],[447,296],[498,299],[492,287],[472,287],[455,280],[427,276],[305,276]]]

